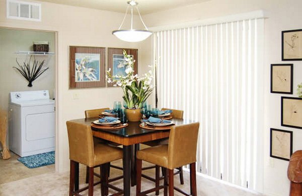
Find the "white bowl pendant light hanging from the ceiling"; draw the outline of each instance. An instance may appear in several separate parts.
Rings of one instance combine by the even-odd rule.
[[[142,21],[142,18],[141,18],[141,15],[139,13],[138,6],[137,6],[138,3],[135,2],[134,0],[131,0],[130,2],[127,2],[127,3],[129,5],[127,7],[126,14],[124,16],[122,24],[119,26],[118,30],[112,31],[112,34],[115,35],[117,38],[119,38],[123,41],[128,41],[128,42],[138,42],[138,41],[145,40],[150,35],[152,35],[152,31],[149,31],[148,28],[146,27],[146,25],[144,24],[144,22]],[[130,29],[123,30],[123,29],[121,29],[121,27],[124,24],[124,21],[126,19],[129,8],[131,8],[131,26],[130,26]],[[145,28],[144,30],[133,29],[133,8],[136,8],[140,21]]]

